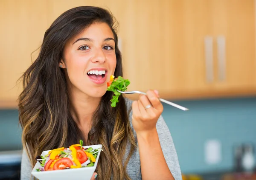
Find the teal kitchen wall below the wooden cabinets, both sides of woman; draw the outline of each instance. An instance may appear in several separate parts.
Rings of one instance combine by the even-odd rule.
[[[256,98],[176,101],[188,112],[164,104],[168,125],[183,173],[229,170],[233,167],[233,146],[256,145]],[[17,110],[0,110],[0,150],[20,149],[21,130]],[[222,160],[217,165],[204,162],[204,143],[221,142]]]

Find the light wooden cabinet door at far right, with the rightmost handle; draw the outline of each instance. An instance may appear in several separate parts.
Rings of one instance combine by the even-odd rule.
[[[254,0],[212,0],[218,91],[256,92],[254,3]]]

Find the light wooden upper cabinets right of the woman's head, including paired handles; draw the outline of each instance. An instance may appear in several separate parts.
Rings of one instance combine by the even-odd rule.
[[[254,0],[150,4],[124,11],[133,27],[121,34],[129,90],[170,99],[256,94]]]

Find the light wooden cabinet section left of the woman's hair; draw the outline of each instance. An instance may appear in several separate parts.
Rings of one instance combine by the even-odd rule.
[[[22,90],[17,80],[31,64],[31,53],[40,47],[47,29],[47,1],[1,0],[0,24],[0,107],[8,108],[17,105]]]

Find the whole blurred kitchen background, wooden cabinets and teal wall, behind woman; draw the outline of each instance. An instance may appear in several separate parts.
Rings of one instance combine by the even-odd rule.
[[[16,82],[53,20],[76,6],[116,17],[129,90],[190,109],[163,111],[183,180],[256,179],[255,0],[0,0],[0,180],[20,176]]]

